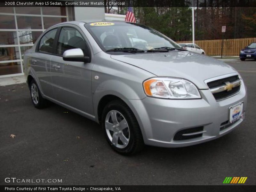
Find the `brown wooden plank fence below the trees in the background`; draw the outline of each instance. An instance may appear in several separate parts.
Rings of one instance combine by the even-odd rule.
[[[205,51],[206,55],[209,56],[221,55],[221,42],[221,39],[195,41],[195,43]],[[252,42],[256,42],[256,37],[244,39],[224,39],[223,55],[238,56],[240,50]],[[192,43],[192,41],[178,41],[176,43]]]

